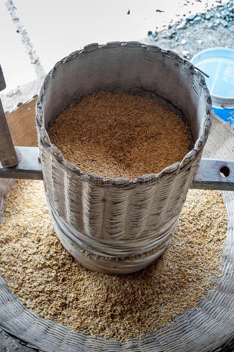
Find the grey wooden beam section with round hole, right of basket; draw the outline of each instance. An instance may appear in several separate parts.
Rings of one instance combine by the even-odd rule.
[[[221,176],[222,171],[227,177]],[[191,188],[234,191],[234,161],[201,159]]]

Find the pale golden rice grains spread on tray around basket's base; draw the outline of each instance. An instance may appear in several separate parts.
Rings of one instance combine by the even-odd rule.
[[[22,180],[5,203],[0,270],[10,290],[45,319],[125,341],[168,325],[212,292],[226,230],[221,192],[189,191],[177,231],[155,263],[126,276],[93,273],[55,235],[42,182]]]

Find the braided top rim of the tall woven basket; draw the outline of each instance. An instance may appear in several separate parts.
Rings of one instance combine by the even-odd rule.
[[[121,46],[126,46],[129,49],[137,48],[138,50],[148,50],[148,51],[151,51],[153,54],[156,53],[157,55],[161,54],[166,59],[175,61],[177,66],[178,65],[183,66],[184,69],[190,71],[191,75],[194,76],[194,79],[197,79],[197,81],[199,82],[199,85],[202,87],[205,93],[205,100],[206,100],[205,119],[202,125],[202,132],[200,134],[200,137],[195,141],[194,147],[184,156],[184,158],[179,162],[176,162],[174,164],[171,164],[165,167],[157,174],[156,173],[144,174],[134,179],[122,178],[122,177],[104,178],[102,175],[99,175],[99,174],[83,172],[74,163],[69,162],[63,156],[63,153],[50,142],[49,135],[44,127],[44,113],[42,109],[42,101],[43,101],[44,95],[46,94],[46,90],[50,81],[53,79],[53,76],[55,75],[57,67],[64,64],[66,65],[67,62],[73,60],[77,56],[81,55],[83,52],[85,52],[85,54],[88,54],[89,52],[92,52],[94,50],[108,50],[110,48],[112,49],[112,48],[117,48]],[[118,187],[136,186],[138,184],[149,184],[149,183],[155,184],[155,183],[161,182],[165,177],[167,177],[168,174],[172,174],[172,173],[177,174],[180,170],[184,168],[189,168],[192,162],[199,154],[199,152],[203,150],[203,147],[206,143],[209,130],[211,127],[211,107],[212,107],[212,101],[211,101],[210,93],[205,83],[204,76],[199,71],[195,71],[195,66],[190,61],[183,59],[174,51],[163,50],[155,45],[146,45],[140,42],[109,42],[107,44],[101,44],[101,45],[99,45],[98,43],[92,43],[92,44],[86,45],[81,50],[77,50],[70,53],[68,56],[58,61],[54,65],[52,70],[50,70],[50,72],[45,76],[39,93],[37,104],[36,104],[36,126],[38,130],[38,135],[39,135],[38,143],[39,143],[39,147],[45,148],[46,151],[48,151],[52,155],[52,157],[54,157],[59,162],[60,166],[65,171],[69,171],[73,173],[76,178],[82,181],[95,184],[95,185],[100,185],[100,186],[115,185]]]

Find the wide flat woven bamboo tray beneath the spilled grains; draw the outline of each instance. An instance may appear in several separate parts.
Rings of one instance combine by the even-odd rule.
[[[36,101],[34,105],[35,103]],[[21,117],[28,111],[31,111],[34,121],[33,102],[24,104],[23,107],[22,114],[15,116],[18,122],[16,119],[8,121],[14,120],[15,131],[11,129],[13,140],[15,135],[18,143],[26,146],[28,140],[25,139],[24,130],[18,128],[18,124],[21,125]],[[8,123],[11,128],[11,123]],[[29,123],[31,125],[30,120]],[[30,145],[36,144],[37,141],[34,141]],[[233,160],[234,157],[234,131],[215,115],[202,157],[220,160]],[[0,193],[0,204],[12,186],[9,184],[11,181],[0,179],[0,189],[4,190]],[[147,333],[141,339],[130,339],[124,343],[106,340],[100,336],[93,338],[82,331],[75,333],[67,326],[45,320],[26,308],[9,290],[0,275],[0,328],[34,349],[44,352],[221,351],[220,347],[233,338],[234,332],[234,192],[225,191],[222,195],[228,215],[222,276],[217,280],[217,287],[212,295],[204,297],[197,309],[188,309],[184,314],[175,317],[170,326],[156,329],[155,333]]]

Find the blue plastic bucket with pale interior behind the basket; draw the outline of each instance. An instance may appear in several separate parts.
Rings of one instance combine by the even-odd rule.
[[[224,121],[234,123],[234,50],[211,48],[198,52],[191,60],[205,72],[212,108]]]

